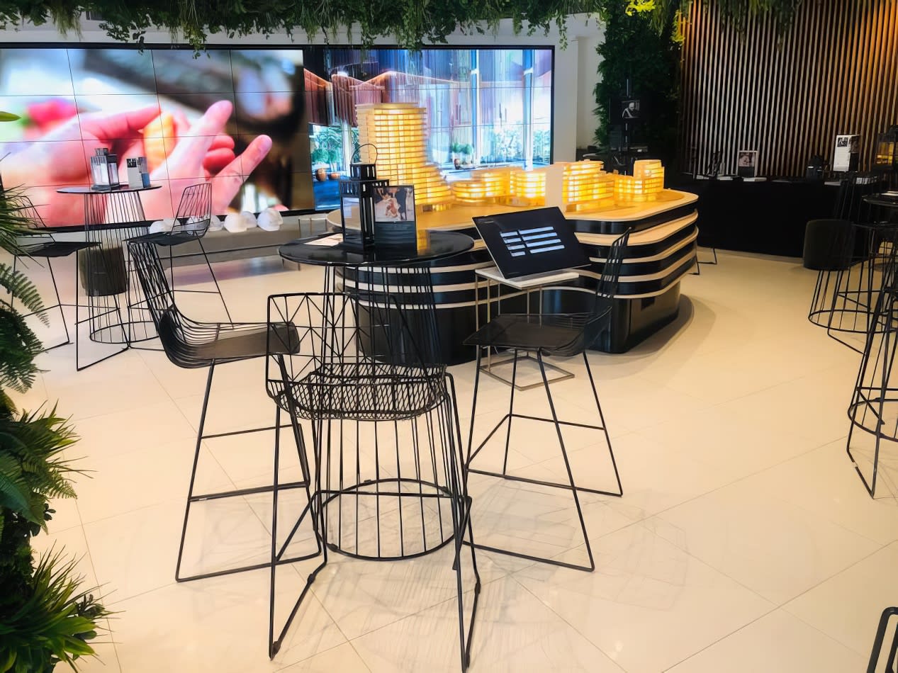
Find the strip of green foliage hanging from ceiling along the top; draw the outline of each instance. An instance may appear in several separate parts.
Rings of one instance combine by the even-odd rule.
[[[752,13],[773,13],[788,21],[801,0],[717,0],[725,15],[736,23]],[[122,42],[142,43],[146,31],[169,31],[172,41],[186,41],[202,49],[210,34],[228,37],[260,33],[304,31],[310,37],[323,34],[339,39],[357,25],[363,46],[374,39],[395,39],[405,48],[442,43],[456,30],[489,31],[510,19],[515,31],[533,34],[557,27],[564,42],[567,17],[574,13],[602,13],[616,5],[629,13],[660,19],[691,0],[155,0],[152,3],[120,0],[0,0],[0,27],[22,21],[52,22],[60,31],[78,31],[84,13],[102,17],[102,29]],[[351,41],[351,40],[350,40]]]

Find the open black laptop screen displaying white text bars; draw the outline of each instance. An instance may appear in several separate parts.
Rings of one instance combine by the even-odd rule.
[[[506,278],[589,266],[574,228],[557,207],[483,215],[474,225]]]

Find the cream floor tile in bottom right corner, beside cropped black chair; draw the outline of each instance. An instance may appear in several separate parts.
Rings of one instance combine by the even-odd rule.
[[[898,605],[898,543],[880,549],[783,608],[865,657],[885,607]]]

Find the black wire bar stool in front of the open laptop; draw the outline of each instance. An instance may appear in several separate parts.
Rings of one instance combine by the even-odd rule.
[[[487,325],[480,328],[477,332],[465,339],[465,345],[477,346],[477,368],[474,375],[474,396],[471,406],[471,429],[468,436],[468,455],[465,459],[465,482],[467,483],[470,474],[497,477],[515,482],[524,482],[527,484],[547,486],[550,488],[561,488],[570,491],[574,497],[574,503],[577,508],[577,518],[580,523],[580,529],[583,533],[586,553],[589,557],[589,564],[577,565],[568,564],[550,558],[544,558],[537,555],[525,554],[508,549],[501,549],[496,546],[487,546],[478,544],[478,548],[485,549],[499,554],[506,554],[524,558],[531,561],[541,563],[559,565],[575,570],[593,571],[595,562],[593,559],[592,547],[589,544],[589,536],[586,532],[586,524],[583,517],[583,510],[580,506],[578,493],[603,494],[620,497],[623,494],[621,487],[621,476],[618,472],[617,461],[614,459],[614,451],[612,450],[611,438],[608,435],[607,426],[605,424],[604,415],[602,413],[602,405],[599,403],[598,392],[595,389],[595,380],[593,372],[589,366],[589,359],[586,356],[586,350],[594,344],[595,340],[608,327],[611,319],[612,302],[614,295],[617,293],[617,287],[621,276],[621,264],[623,251],[627,247],[629,240],[629,230],[624,232],[617,240],[614,240],[609,249],[606,261],[603,267],[601,278],[595,290],[594,304],[592,310],[586,313],[577,314],[505,314],[499,315],[489,321]],[[556,288],[557,292],[563,291],[565,288]],[[508,403],[508,413],[496,424],[489,432],[487,437],[480,442],[477,448],[473,447],[474,442],[474,426],[477,418],[477,395],[480,385],[480,359],[482,357],[483,348],[502,348],[512,350],[514,352],[514,362],[512,364],[512,386],[511,396]],[[517,374],[518,355],[522,352],[535,352],[537,362],[540,365],[540,373],[543,388],[549,400],[549,408],[551,418],[540,416],[523,415],[515,413],[515,376]],[[555,403],[552,399],[549,380],[546,378],[546,364],[544,357],[574,357],[583,356],[586,373],[589,377],[589,384],[592,389],[592,397],[595,401],[595,408],[599,415],[600,425],[570,423],[559,420],[559,414],[556,410]],[[558,434],[559,446],[561,449],[561,457],[564,460],[565,469],[568,475],[568,483],[557,483],[532,479],[524,476],[513,476],[508,474],[508,451],[511,441],[511,426],[513,419],[526,419],[531,421],[539,421],[544,423],[552,423],[555,425]],[[505,457],[503,459],[502,472],[493,472],[472,467],[474,460],[480,454],[499,428],[507,423],[506,441],[505,441]],[[608,454],[612,461],[614,469],[614,477],[617,482],[617,491],[606,491],[595,488],[585,488],[578,486],[574,480],[574,473],[568,460],[568,450],[565,447],[564,438],[561,434],[562,426],[576,426],[580,428],[588,428],[592,430],[602,431],[604,439],[608,445]]]

